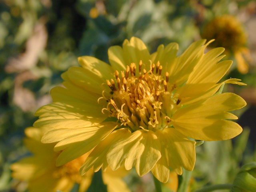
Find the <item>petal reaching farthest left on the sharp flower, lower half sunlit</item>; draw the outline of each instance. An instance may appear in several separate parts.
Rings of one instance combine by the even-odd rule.
[[[35,127],[47,128],[82,128],[98,124],[106,119],[101,113],[101,106],[85,103],[51,103],[42,106],[35,113],[39,119],[34,122]]]

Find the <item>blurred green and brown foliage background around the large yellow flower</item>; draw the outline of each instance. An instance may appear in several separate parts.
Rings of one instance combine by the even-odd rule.
[[[233,140],[204,142],[190,191],[207,184],[232,183],[239,168],[256,161],[256,1],[254,0],[2,0],[0,1],[0,191],[23,192],[10,164],[28,156],[24,129],[37,108],[51,102],[60,74],[78,66],[77,57],[108,62],[107,50],[136,36],[156,51],[177,42],[182,53],[200,38],[216,39],[208,50],[226,48],[233,65],[224,77],[247,86],[225,86],[248,105],[236,111],[244,128]],[[174,176],[175,177],[175,176]],[[172,181],[174,181],[172,179]],[[152,176],[135,172],[125,181],[135,192],[154,191]],[[176,190],[166,184],[164,191]],[[172,190],[171,190],[172,189]],[[223,191],[223,190],[222,190]]]

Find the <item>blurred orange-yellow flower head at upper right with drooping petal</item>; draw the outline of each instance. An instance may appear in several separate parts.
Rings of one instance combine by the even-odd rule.
[[[226,54],[233,53],[237,61],[237,69],[246,74],[249,70],[243,55],[250,60],[250,51],[246,48],[247,37],[242,24],[231,15],[214,18],[204,28],[202,37],[208,40],[215,39],[212,47],[224,47]]]

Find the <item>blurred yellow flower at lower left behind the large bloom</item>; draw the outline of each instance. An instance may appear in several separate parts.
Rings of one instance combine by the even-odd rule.
[[[28,182],[29,192],[56,192],[61,190],[68,192],[75,183],[78,183],[79,192],[85,192],[91,184],[93,170],[90,169],[84,176],[79,174],[79,169],[84,163],[89,152],[62,165],[55,166],[59,152],[52,149],[54,144],[42,144],[40,142],[44,131],[38,128],[26,128],[24,142],[33,156],[23,158],[11,165],[12,177]],[[129,192],[121,177],[127,173],[123,170],[115,172],[107,170],[103,172],[103,181],[107,185],[108,192]]]

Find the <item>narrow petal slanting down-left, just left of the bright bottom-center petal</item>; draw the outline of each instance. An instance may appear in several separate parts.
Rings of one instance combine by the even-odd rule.
[[[118,129],[110,133],[94,148],[94,150],[92,150],[90,155],[86,158],[80,169],[80,174],[85,174],[92,166],[94,168],[94,172],[100,170],[102,166],[103,169],[106,169],[108,166],[106,154],[110,146],[114,142],[124,138],[127,134],[130,134],[130,131],[126,128]]]

